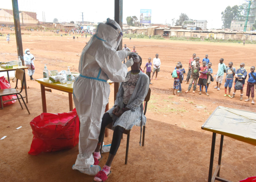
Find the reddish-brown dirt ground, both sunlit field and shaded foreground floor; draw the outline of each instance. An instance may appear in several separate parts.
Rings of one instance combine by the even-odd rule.
[[[6,37],[0,37],[0,61],[17,59],[17,48],[14,32],[10,30],[10,44]],[[72,72],[78,72],[80,53],[89,41],[78,35],[60,36],[52,32],[22,31],[23,51],[30,49],[35,56],[34,79],[42,78],[44,64],[48,70],[67,70],[71,66]],[[224,97],[224,82],[221,90],[210,84],[208,94],[199,95],[192,92],[185,94],[188,84],[182,84],[181,96],[173,96],[173,78],[170,73],[180,61],[188,71],[188,60],[196,53],[200,60],[205,54],[212,62],[213,73],[218,70],[219,59],[224,63],[233,62],[237,69],[241,62],[250,72],[250,66],[255,66],[256,45],[233,43],[205,43],[191,41],[170,41],[154,39],[124,38],[123,44],[136,50],[142,57],[142,69],[150,57],[159,54],[161,71],[158,80],[153,79],[151,98],[147,109],[145,146],[139,146],[140,128],[134,127],[131,131],[128,164],[124,164],[126,135],[121,142],[117,155],[112,163],[112,174],[108,181],[207,181],[212,133],[201,129],[202,124],[211,115],[217,106],[238,108],[241,110],[256,111],[251,103],[239,100],[239,91],[234,99]],[[187,75],[185,75],[186,78]],[[19,103],[12,104],[0,110],[0,179],[1,181],[93,181],[93,177],[71,169],[78,154],[78,145],[71,150],[53,153],[41,153],[37,156],[27,154],[33,138],[29,122],[42,112],[40,84],[31,81],[26,76],[31,115],[21,110]],[[11,82],[12,88],[14,83]],[[113,105],[113,84],[109,106]],[[246,89],[246,86],[245,86]],[[232,90],[233,91],[233,88]],[[68,112],[68,94],[52,90],[46,92],[48,112]],[[19,130],[15,128],[22,126]],[[112,131],[104,141],[111,143]],[[214,169],[217,165],[220,135],[217,135]],[[220,176],[231,181],[239,181],[256,175],[255,146],[224,137],[222,166]],[[103,167],[108,154],[103,154]]]

